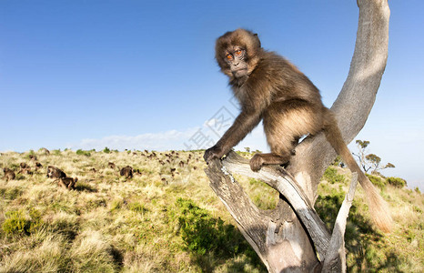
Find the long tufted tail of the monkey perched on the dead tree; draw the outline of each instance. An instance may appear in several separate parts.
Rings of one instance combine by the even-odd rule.
[[[365,194],[368,199],[368,207],[369,212],[371,214],[371,218],[376,224],[384,232],[389,232],[392,226],[392,218],[389,214],[389,206],[386,201],[379,195],[379,191],[372,185],[369,181],[368,177],[362,172],[358,163],[355,161],[355,158],[352,157],[348,147],[343,141],[343,137],[341,136],[341,132],[337,126],[337,119],[333,115],[333,113],[327,110],[326,124],[324,126],[324,132],[328,142],[331,146],[336,150],[338,155],[342,157],[345,163],[348,165],[348,168],[352,172],[358,173],[358,181],[360,186],[364,189]]]

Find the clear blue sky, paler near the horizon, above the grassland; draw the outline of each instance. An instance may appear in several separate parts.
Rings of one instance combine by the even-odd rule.
[[[396,166],[383,174],[422,189],[424,2],[389,6],[388,66],[357,139]],[[214,43],[237,27],[291,60],[331,106],[357,24],[354,0],[0,1],[0,151],[183,149],[199,133],[216,141],[214,120],[237,108]],[[261,130],[238,147],[267,150]]]

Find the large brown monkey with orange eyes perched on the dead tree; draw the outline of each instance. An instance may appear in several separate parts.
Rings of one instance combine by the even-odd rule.
[[[229,77],[241,113],[214,147],[205,152],[209,161],[226,155],[260,120],[263,120],[268,154],[256,154],[250,167],[287,164],[301,136],[323,131],[343,158],[368,197],[369,210],[377,226],[389,231],[391,217],[385,201],[362,173],[350,154],[333,113],[322,104],[318,88],[284,57],[264,50],[256,34],[237,29],[220,36],[216,43],[217,64]]]

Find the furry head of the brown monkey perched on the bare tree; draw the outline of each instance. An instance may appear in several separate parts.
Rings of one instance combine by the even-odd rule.
[[[256,34],[237,29],[220,36],[215,50],[221,71],[230,78],[241,78],[255,69],[262,48]]]

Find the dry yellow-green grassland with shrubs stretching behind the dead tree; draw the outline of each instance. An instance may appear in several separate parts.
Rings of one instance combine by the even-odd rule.
[[[208,187],[202,156],[108,149],[1,154],[1,168],[17,173],[25,162],[34,174],[0,178],[0,272],[265,272]],[[35,162],[43,167],[35,171]],[[47,166],[77,177],[76,189],[58,187]],[[117,167],[126,166],[139,173],[120,177]],[[329,228],[349,176],[330,167],[319,185],[316,207]],[[273,189],[247,177],[237,181],[257,207],[276,206]],[[346,234],[348,269],[423,272],[424,198],[381,181],[395,228],[385,235],[370,225],[359,188]]]

